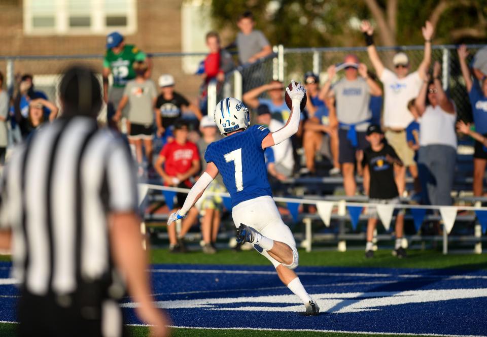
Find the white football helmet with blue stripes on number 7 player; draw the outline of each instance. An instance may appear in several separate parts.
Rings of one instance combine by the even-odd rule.
[[[250,125],[249,109],[232,97],[220,100],[215,107],[214,117],[221,134],[246,129]]]

